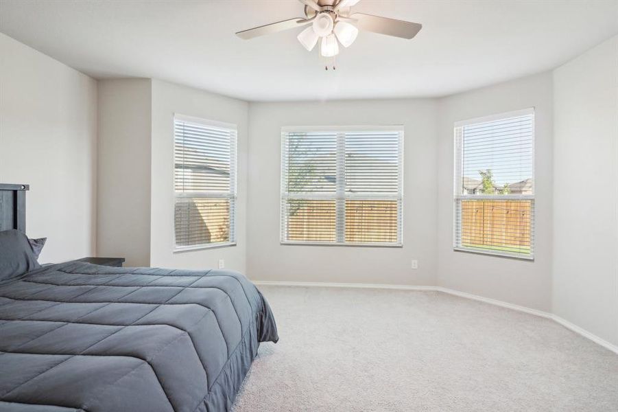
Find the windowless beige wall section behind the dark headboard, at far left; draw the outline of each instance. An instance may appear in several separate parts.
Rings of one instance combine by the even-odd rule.
[[[95,252],[97,82],[0,34],[0,182],[27,183],[41,262]]]

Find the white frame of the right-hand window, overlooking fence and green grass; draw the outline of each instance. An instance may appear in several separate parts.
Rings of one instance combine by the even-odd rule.
[[[472,124],[495,122],[501,119],[508,119],[510,117],[521,117],[525,115],[532,115],[532,194],[501,194],[495,195],[479,195],[479,194],[461,194],[458,192],[463,187],[464,178],[464,160],[463,155],[460,155],[462,150],[462,136],[457,133],[457,130],[464,126],[470,126]],[[488,115],[483,117],[474,117],[472,119],[460,120],[453,124],[453,251],[476,253],[479,255],[492,255],[499,258],[513,258],[518,260],[534,261],[534,255],[536,252],[536,112],[534,106],[530,108],[523,108],[515,111],[508,111],[502,113],[496,113],[494,115]],[[523,253],[497,251],[494,249],[483,250],[480,248],[464,247],[457,245],[457,218],[458,218],[458,202],[462,200],[515,200],[515,201],[530,201],[530,254],[525,255]]]

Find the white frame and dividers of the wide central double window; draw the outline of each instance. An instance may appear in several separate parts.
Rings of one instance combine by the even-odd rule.
[[[340,175],[340,168],[343,168],[345,161],[345,152],[339,150],[338,146],[340,145],[340,141],[342,137],[344,137],[345,132],[364,132],[364,131],[396,131],[401,133],[401,139],[399,140],[399,196],[388,196],[388,195],[355,195],[355,194],[344,194],[345,191],[345,180],[344,179],[335,179],[337,182],[337,194],[335,195],[335,201],[337,201],[337,206],[335,209],[336,214],[345,213],[345,208],[340,207],[340,201],[345,201],[346,199],[353,198],[362,198],[362,199],[370,199],[376,198],[379,200],[398,200],[401,204],[399,208],[399,216],[397,219],[399,220],[399,242],[338,242],[344,230],[340,231],[335,228],[337,233],[337,242],[317,242],[317,241],[304,241],[304,240],[285,240],[285,219],[283,218],[284,210],[283,210],[283,199],[289,198],[289,193],[286,192],[285,187],[285,176],[283,172],[283,164],[285,162],[285,135],[287,133],[294,132],[324,132],[324,133],[337,133],[337,177]],[[404,126],[403,124],[396,125],[367,125],[367,126],[283,126],[281,128],[281,146],[280,146],[280,165],[279,165],[279,181],[281,184],[281,193],[279,196],[279,244],[282,245],[295,245],[295,246],[333,246],[333,247],[387,247],[387,248],[401,248],[403,247],[403,208],[404,208],[404,194],[403,194],[403,141],[404,141]],[[340,159],[342,157],[342,159]],[[343,196],[342,196],[343,193]],[[332,195],[326,194],[302,194],[296,193],[294,194],[294,198],[301,198],[307,200],[332,200]],[[341,222],[342,220],[335,218],[335,225],[337,222]]]

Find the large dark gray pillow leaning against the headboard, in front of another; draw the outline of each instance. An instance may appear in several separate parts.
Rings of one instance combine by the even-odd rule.
[[[40,268],[30,242],[19,230],[0,231],[0,281]]]

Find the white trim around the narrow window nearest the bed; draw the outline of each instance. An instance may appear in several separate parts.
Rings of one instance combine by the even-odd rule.
[[[194,117],[194,116],[188,116],[188,115],[182,115],[180,113],[174,113],[174,115],[172,116],[171,119],[171,134],[172,134],[172,139],[171,139],[171,193],[174,199],[174,202],[176,202],[176,198],[177,197],[183,197],[183,196],[187,196],[187,197],[204,197],[204,198],[208,198],[208,197],[212,197],[212,198],[222,198],[222,196],[213,196],[211,194],[208,193],[201,193],[201,194],[178,194],[176,193],[176,185],[174,183],[174,174],[176,173],[176,160],[174,159],[174,155],[175,155],[175,146],[174,146],[174,122],[176,122],[176,120],[180,120],[183,122],[191,122],[191,123],[197,123],[197,124],[203,124],[204,126],[209,126],[212,128],[219,128],[221,130],[233,130],[235,135],[234,135],[234,146],[235,146],[235,150],[234,150],[234,155],[235,155],[235,159],[234,159],[234,176],[233,176],[233,187],[234,187],[234,193],[230,196],[228,196],[228,198],[233,198],[235,203],[237,203],[238,201],[238,126],[236,124],[233,123],[226,123],[226,122],[217,122],[216,120],[209,120],[209,119],[204,119],[202,117]],[[171,208],[171,222],[172,222],[172,228],[174,229],[174,236],[172,236],[171,239],[171,251],[172,253],[182,253],[182,252],[191,252],[191,251],[200,251],[203,249],[216,249],[219,247],[235,247],[237,245],[236,242],[236,221],[237,221],[237,205],[235,204],[234,210],[233,210],[233,216],[230,216],[230,221],[232,223],[230,223],[230,239],[233,239],[230,242],[212,242],[212,243],[205,243],[205,244],[194,244],[191,246],[177,246],[176,245],[176,229],[175,229],[175,212],[174,212],[174,206],[172,206]]]

